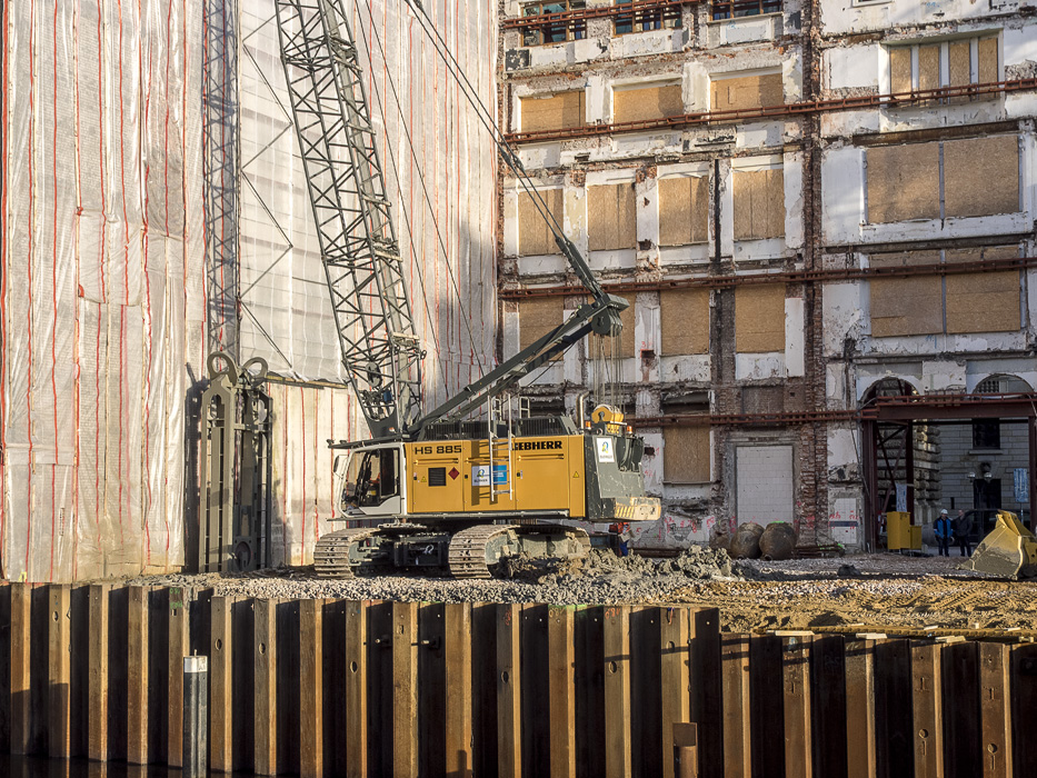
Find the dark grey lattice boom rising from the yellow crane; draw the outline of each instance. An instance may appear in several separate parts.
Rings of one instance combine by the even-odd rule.
[[[276,0],[281,59],[342,365],[375,438],[420,416],[421,359],[342,0]]]

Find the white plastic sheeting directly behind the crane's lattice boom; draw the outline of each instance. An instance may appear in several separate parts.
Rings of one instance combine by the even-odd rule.
[[[236,52],[220,59],[225,69],[237,72],[240,133],[235,136],[233,128],[228,133],[219,123],[210,131],[221,133],[225,149],[239,144],[238,205],[235,209],[222,200],[233,216],[219,220],[220,235],[237,225],[239,240],[233,248],[220,247],[222,259],[213,269],[228,265],[237,251],[236,263],[226,268],[219,283],[225,298],[237,296],[239,310],[227,322],[233,310],[220,309],[225,319],[213,321],[213,345],[237,348],[242,360],[262,356],[273,371],[295,380],[337,382],[343,373],[278,57],[273,2],[237,3],[231,21],[226,21],[226,9],[236,3],[221,4],[225,10],[213,18],[233,28],[239,41]],[[496,8],[478,0],[425,6],[496,114]],[[496,153],[407,4],[359,0],[349,7],[417,330],[428,349],[425,387],[431,408],[492,365]],[[211,170],[226,176],[220,166]],[[229,280],[237,273],[240,281]],[[216,273],[213,279],[218,286]],[[368,432],[345,389],[270,388],[275,523],[280,526],[272,539],[273,558],[309,562],[317,538],[329,529],[320,520],[331,511],[332,458],[326,441]]]

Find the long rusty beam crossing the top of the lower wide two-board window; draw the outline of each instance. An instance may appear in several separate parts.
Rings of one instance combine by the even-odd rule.
[[[930,262],[899,268],[838,268],[830,270],[794,270],[789,272],[758,272],[738,276],[696,276],[661,281],[620,281],[602,283],[610,295],[639,291],[666,291],[668,289],[732,289],[760,283],[832,283],[838,281],[869,280],[874,278],[907,278],[909,276],[958,276],[977,272],[1004,272],[1037,267],[1037,257],[1013,257],[978,262]],[[503,288],[498,291],[502,300],[521,300],[535,297],[586,296],[579,286]]]

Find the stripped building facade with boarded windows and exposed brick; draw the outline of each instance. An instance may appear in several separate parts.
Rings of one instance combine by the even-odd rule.
[[[1031,4],[500,11],[501,123],[631,303],[620,401],[665,508],[636,542],[782,520],[802,545],[874,547],[878,511],[925,522],[947,507],[939,431],[973,417],[1025,419],[1033,475]],[[582,297],[507,174],[500,205],[507,355]],[[535,402],[572,410],[600,370],[594,349],[539,376]],[[971,469],[989,480],[986,459]]]

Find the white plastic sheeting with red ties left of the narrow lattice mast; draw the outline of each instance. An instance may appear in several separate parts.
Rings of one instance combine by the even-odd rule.
[[[3,6],[2,571],[176,566],[205,356],[201,4]]]

